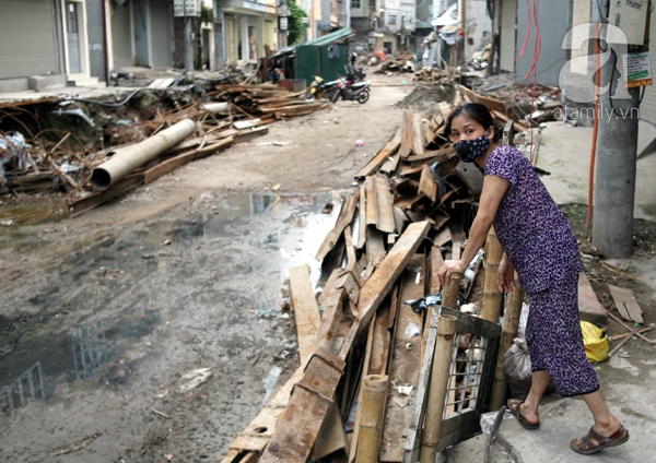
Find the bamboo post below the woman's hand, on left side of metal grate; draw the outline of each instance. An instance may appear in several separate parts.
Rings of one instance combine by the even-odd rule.
[[[437,322],[437,343],[431,372],[431,387],[427,394],[424,431],[421,439],[420,463],[434,463],[437,455],[452,351],[456,335],[456,321],[455,317],[441,316]]]

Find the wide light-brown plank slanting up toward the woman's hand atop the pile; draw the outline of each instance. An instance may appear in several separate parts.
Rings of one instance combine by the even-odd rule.
[[[394,282],[399,277],[414,251],[426,237],[430,228],[431,224],[429,222],[410,224],[394,245],[394,248],[385,256],[383,262],[376,268],[374,274],[360,289],[356,318],[360,321],[361,330],[366,328],[372,316],[394,286]]]

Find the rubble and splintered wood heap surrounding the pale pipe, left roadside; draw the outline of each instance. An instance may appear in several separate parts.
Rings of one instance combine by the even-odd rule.
[[[138,93],[139,96],[136,96]],[[25,107],[3,106],[0,116],[3,121],[11,122],[8,126],[13,130],[0,131],[0,194],[63,192],[66,195],[56,207],[8,218],[33,222],[44,219],[55,211],[85,212],[187,162],[263,134],[267,132],[263,126],[277,119],[307,115],[327,106],[308,103],[303,93],[290,93],[270,84],[215,84],[214,90],[204,96],[204,102],[194,97],[188,98],[190,103],[185,103],[184,97],[174,98],[175,106],[168,110],[162,106],[163,96],[141,90],[120,103],[79,98],[35,102],[34,114],[49,111],[58,117],[63,114],[74,116],[75,121],[83,121],[80,124],[82,130],[74,131],[40,130],[37,117]],[[130,103],[136,107],[130,112],[124,105],[132,98]],[[57,111],[49,109],[57,107],[60,108]],[[28,117],[32,126],[38,127],[37,133],[22,122],[21,117]],[[102,122],[96,123],[94,119]],[[185,120],[195,124],[189,140],[167,146],[144,165],[129,171],[129,181],[112,185],[102,192],[93,188],[93,182],[90,182],[92,174],[114,153]],[[62,127],[60,120],[57,123]],[[87,136],[81,135],[82,132],[87,132]],[[121,140],[125,143],[119,144]]]

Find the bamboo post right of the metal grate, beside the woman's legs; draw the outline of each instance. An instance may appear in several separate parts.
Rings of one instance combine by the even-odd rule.
[[[492,382],[492,393],[490,395],[490,412],[496,412],[505,403],[506,380],[503,375],[503,356],[517,337],[519,331],[519,317],[522,316],[522,304],[524,302],[524,288],[517,281],[515,272],[515,290],[508,296],[503,319],[503,332],[501,343],[499,344],[499,354],[496,355],[496,366],[494,367],[494,380]]]

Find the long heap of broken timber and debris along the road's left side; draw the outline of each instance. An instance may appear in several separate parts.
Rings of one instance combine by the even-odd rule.
[[[20,127],[27,136],[19,131],[7,134],[0,131],[0,194],[61,191],[67,194],[56,207],[9,218],[35,222],[61,209],[80,214],[139,185],[154,181],[190,161],[265,134],[268,129],[263,126],[277,119],[303,116],[326,107],[326,104],[307,103],[303,94],[292,94],[269,84],[216,85],[216,91],[208,97],[210,100],[204,103],[195,100],[168,111],[154,110],[152,117],[137,122],[127,120],[129,124],[139,126],[139,130],[133,131],[134,136],[129,138],[129,144],[142,142],[183,120],[194,121],[196,130],[188,140],[162,152],[125,180],[102,192],[94,192],[89,186],[92,171],[127,145],[97,150],[95,143],[84,143],[73,132],[40,130],[33,134],[22,122]],[[78,116],[85,116],[83,108],[89,104],[71,102],[67,106],[69,112],[73,106]],[[109,109],[106,111],[110,112]],[[7,120],[11,118],[20,122],[19,116],[31,114],[24,108],[3,107],[0,108],[2,115],[8,116]],[[112,120],[112,117],[106,116],[106,119]],[[102,132],[103,128],[97,130]]]

